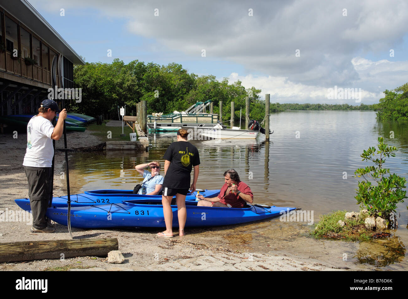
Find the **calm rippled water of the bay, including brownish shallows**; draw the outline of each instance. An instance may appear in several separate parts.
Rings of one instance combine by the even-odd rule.
[[[291,111],[271,115],[271,142],[264,135],[255,141],[191,141],[200,151],[197,188],[221,188],[223,173],[235,168],[254,194],[254,202],[297,206],[319,214],[355,210],[355,169],[369,166],[360,154],[377,144],[377,137],[400,148],[387,159],[391,173],[408,178],[408,124],[378,122],[372,111]],[[394,138],[390,138],[393,131]],[[74,192],[113,188],[133,189],[142,181],[136,164],[163,161],[174,133],[151,134],[149,153],[75,153],[71,156]],[[162,171],[163,172],[163,171]],[[346,179],[344,179],[347,177]],[[340,267],[384,270],[408,269],[406,202],[399,204],[399,228],[381,241],[315,240],[307,222],[282,222],[279,218],[220,228],[193,229],[190,237],[212,244],[228,244],[248,252],[290,252],[337,263]],[[309,221],[310,222],[310,221]],[[342,257],[347,255],[347,261]]]

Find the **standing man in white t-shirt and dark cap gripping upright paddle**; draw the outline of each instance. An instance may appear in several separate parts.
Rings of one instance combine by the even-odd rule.
[[[55,127],[51,121],[60,113]],[[63,133],[67,110],[58,108],[53,100],[44,100],[27,125],[27,151],[24,156],[24,171],[28,179],[28,194],[33,213],[33,233],[53,233],[47,227],[47,212],[52,192],[51,166],[54,156],[52,140],[59,140]]]

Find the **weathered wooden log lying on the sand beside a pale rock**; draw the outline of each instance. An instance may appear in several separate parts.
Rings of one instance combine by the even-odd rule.
[[[118,249],[116,238],[0,243],[0,263],[61,257],[107,257],[109,251]]]

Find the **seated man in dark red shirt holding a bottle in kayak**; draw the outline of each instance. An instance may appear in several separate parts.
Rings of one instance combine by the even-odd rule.
[[[197,206],[215,206],[229,208],[244,208],[246,203],[253,203],[253,194],[251,188],[239,179],[238,173],[234,169],[227,170],[224,173],[225,184],[222,186],[220,194],[217,197],[205,198],[197,203]]]

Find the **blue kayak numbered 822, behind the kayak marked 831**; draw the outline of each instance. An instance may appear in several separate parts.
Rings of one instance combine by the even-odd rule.
[[[204,197],[216,197],[220,194],[220,189],[218,190],[202,190],[200,194]],[[197,191],[193,193],[188,193],[186,200],[194,200],[197,195]],[[173,197],[175,198],[175,197]],[[71,206],[89,206],[89,205],[100,205],[100,204],[118,204],[122,203],[124,200],[131,199],[162,199],[162,195],[139,195],[133,194],[133,190],[91,190],[85,191],[85,193],[71,195]],[[53,207],[66,207],[68,196],[53,197],[52,206]],[[31,210],[30,200],[28,198],[15,199],[16,204],[23,210]]]

